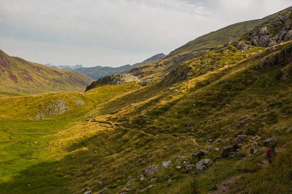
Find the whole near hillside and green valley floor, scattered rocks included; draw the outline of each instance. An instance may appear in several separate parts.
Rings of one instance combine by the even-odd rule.
[[[1,194],[292,193],[291,21],[271,16],[147,86],[0,93]]]

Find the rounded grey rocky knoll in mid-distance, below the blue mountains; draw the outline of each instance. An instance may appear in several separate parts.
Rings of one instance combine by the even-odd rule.
[[[115,74],[115,75],[110,75],[106,77],[101,77],[97,81],[94,81],[89,86],[87,86],[86,91],[98,85],[104,85],[104,84],[120,85],[120,84],[128,83],[130,81],[139,81],[139,79],[129,74]]]

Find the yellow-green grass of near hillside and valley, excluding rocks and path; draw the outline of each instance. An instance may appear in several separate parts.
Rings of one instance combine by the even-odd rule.
[[[220,160],[216,164],[211,162],[213,167],[199,175],[196,170],[186,172],[185,164],[180,164],[183,166],[181,170],[175,168],[177,156],[188,156],[207,146],[228,146],[234,143],[237,134],[246,134],[249,139],[257,134],[262,140],[279,135],[280,139],[274,143],[276,147],[292,141],[291,133],[285,133],[292,125],[292,99],[289,95],[292,82],[279,81],[280,69],[276,67],[268,72],[255,70],[261,58],[249,57],[234,63],[232,68],[205,71],[174,85],[183,92],[182,95],[160,88],[158,84],[138,89],[136,84],[128,83],[98,87],[85,94],[65,92],[0,100],[0,103],[5,101],[5,106],[0,106],[1,116],[5,116],[0,119],[2,193],[66,194],[80,192],[82,188],[94,192],[108,188],[109,193],[117,193],[128,180],[142,174],[147,165],[167,160],[173,163],[157,172],[156,186],[145,193],[206,194],[222,179],[241,173],[257,172],[252,175],[253,179],[267,182],[284,176],[284,169],[288,169],[289,178],[289,162],[281,163],[283,166],[278,168],[283,171],[271,177],[268,172],[273,166],[266,170],[258,163],[264,159],[261,155],[265,150],[247,156],[248,142],[244,143],[236,158]],[[236,57],[232,59],[237,61]],[[291,73],[290,66],[285,69]],[[34,104],[44,106],[49,99],[55,99],[54,96],[64,98],[70,104],[70,111],[38,121],[27,118],[26,114],[32,113]],[[73,105],[72,100],[76,97],[86,104]],[[9,112],[15,103],[20,114]],[[79,109],[79,106],[84,107]],[[268,111],[262,112],[264,108]],[[255,117],[253,122],[243,128],[235,127],[241,119],[251,116]],[[190,121],[194,126],[186,127]],[[208,145],[208,137],[229,141]],[[258,142],[260,146],[263,146],[262,140]],[[212,159],[219,153],[212,151],[206,157]],[[290,153],[283,151],[278,155],[288,159]],[[243,157],[247,160],[240,160]],[[149,158],[152,161],[149,162]],[[280,164],[276,162],[274,165]],[[192,173],[196,175],[196,181]],[[169,178],[174,180],[172,184],[168,184]],[[99,185],[97,182],[101,180],[106,182]],[[245,178],[240,181],[247,191],[256,193],[261,189],[261,185],[251,184]],[[131,183],[138,190],[150,184],[153,183]],[[291,185],[281,184],[275,193],[289,189]],[[132,193],[135,192],[129,192]]]

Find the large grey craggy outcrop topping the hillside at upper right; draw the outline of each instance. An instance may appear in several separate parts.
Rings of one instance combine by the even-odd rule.
[[[262,47],[272,47],[283,42],[291,41],[291,19],[291,11],[279,14],[249,32],[248,40],[253,45]]]

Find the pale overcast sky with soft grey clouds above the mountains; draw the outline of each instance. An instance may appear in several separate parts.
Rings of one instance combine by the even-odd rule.
[[[168,54],[292,0],[0,0],[0,49],[52,65],[121,66]]]

